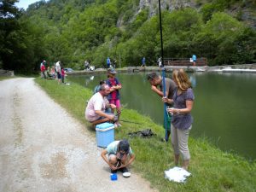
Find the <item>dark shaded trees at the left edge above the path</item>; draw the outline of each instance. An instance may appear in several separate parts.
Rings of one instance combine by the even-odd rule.
[[[44,34],[39,26],[21,17],[16,0],[0,3],[0,68],[23,73],[36,69],[44,55]]]

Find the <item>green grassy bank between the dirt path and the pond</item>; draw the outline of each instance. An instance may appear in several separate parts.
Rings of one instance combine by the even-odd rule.
[[[36,79],[36,82],[51,96],[55,102],[66,108],[74,118],[84,124],[91,134],[95,131],[84,119],[85,101],[92,91],[79,84],[57,84],[55,80]],[[142,101],[143,102],[143,101]],[[173,183],[164,178],[164,171],[174,166],[171,143],[161,143],[164,130],[160,125],[134,110],[123,109],[121,119],[133,123],[121,122],[122,127],[115,130],[115,138],[128,138],[135,151],[136,160],[131,172],[139,172],[148,179],[152,187],[160,191],[248,191],[256,190],[256,163],[249,163],[235,154],[225,153],[215,148],[207,139],[189,138],[191,164],[189,172],[192,177],[187,183]],[[88,127],[88,128],[86,128]],[[131,131],[146,128],[156,133],[155,137],[143,139],[128,137]]]

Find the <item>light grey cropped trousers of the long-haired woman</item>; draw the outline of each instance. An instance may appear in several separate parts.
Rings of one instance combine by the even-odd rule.
[[[171,126],[172,148],[174,154],[181,154],[183,160],[190,160],[189,154],[189,131],[192,125],[187,130],[179,130],[174,125]]]

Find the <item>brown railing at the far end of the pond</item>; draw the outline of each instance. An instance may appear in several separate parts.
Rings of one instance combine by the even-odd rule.
[[[164,58],[165,66],[193,66],[190,58]],[[195,66],[207,66],[207,58],[201,57],[196,59]]]

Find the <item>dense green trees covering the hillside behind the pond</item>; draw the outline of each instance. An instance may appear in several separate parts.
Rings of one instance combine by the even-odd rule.
[[[14,7],[16,0],[1,2],[11,2],[13,9],[12,16],[0,16],[3,68],[35,70],[42,60],[76,69],[89,60],[104,67],[108,56],[122,67],[140,65],[143,56],[155,65],[160,56],[158,14],[150,16],[147,6],[139,9],[139,0],[42,0],[23,13]],[[242,9],[243,1],[197,3],[201,9],[162,10],[164,56],[195,54],[207,57],[209,65],[255,62],[255,29],[226,11],[235,4]]]

